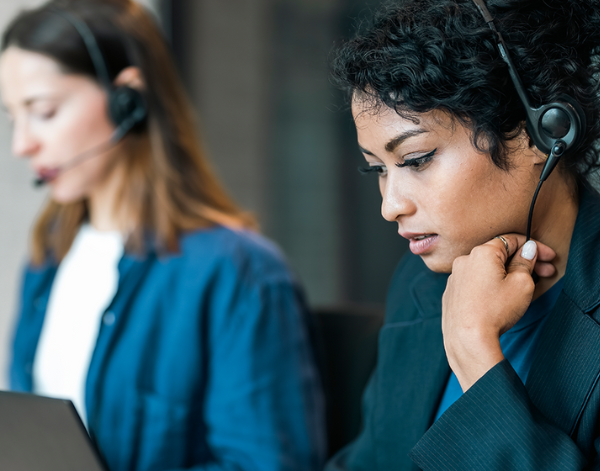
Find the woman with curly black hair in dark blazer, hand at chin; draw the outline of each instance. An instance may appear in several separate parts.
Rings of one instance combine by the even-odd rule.
[[[329,470],[600,469],[599,55],[597,0],[406,0],[337,52],[412,254]]]

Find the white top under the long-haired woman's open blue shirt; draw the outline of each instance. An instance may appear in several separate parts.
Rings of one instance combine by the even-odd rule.
[[[34,392],[70,399],[84,423],[87,371],[102,314],[117,291],[122,256],[119,232],[81,227],[58,267],[33,363]]]

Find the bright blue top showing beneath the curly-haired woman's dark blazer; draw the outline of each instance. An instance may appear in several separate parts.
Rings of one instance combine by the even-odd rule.
[[[533,362],[533,355],[540,333],[548,318],[548,314],[550,314],[550,311],[552,311],[558,300],[562,285],[563,280],[560,279],[548,291],[533,301],[523,317],[519,319],[519,322],[500,337],[500,347],[502,348],[504,358],[511,364],[523,384],[527,381],[527,375]],[[454,404],[462,394],[463,391],[460,383],[456,375],[452,373],[438,407],[435,420],[437,421],[446,409]]]

